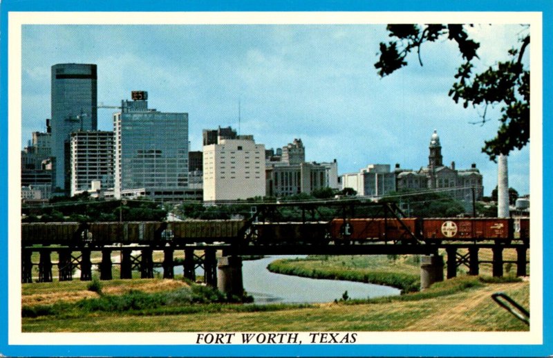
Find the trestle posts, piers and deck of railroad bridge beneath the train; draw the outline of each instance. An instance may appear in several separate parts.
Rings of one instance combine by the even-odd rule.
[[[133,270],[140,272],[140,277],[154,277],[155,267],[161,267],[164,279],[174,278],[177,250],[185,253],[182,260],[183,276],[196,281],[196,268],[204,270],[204,282],[216,287],[221,292],[240,296],[243,294],[242,256],[245,255],[288,255],[288,254],[415,254],[420,255],[421,288],[424,290],[436,281],[444,279],[444,258],[438,255],[438,249],[444,249],[447,261],[445,263],[447,279],[457,276],[458,268],[465,266],[468,274],[478,275],[483,263],[492,265],[493,276],[503,276],[503,265],[516,265],[516,275],[526,276],[528,246],[521,243],[444,243],[440,245],[247,245],[233,247],[232,245],[185,245],[181,247],[165,246],[97,246],[97,247],[23,247],[21,249],[21,282],[33,282],[32,269],[38,268],[38,282],[53,281],[53,267],[57,266],[59,281],[71,281],[75,270],[79,270],[81,281],[90,281],[93,277],[93,266],[97,266],[101,280],[111,280],[113,265],[120,267],[120,279],[131,279]],[[481,249],[491,249],[491,260],[480,260]],[[504,249],[516,249],[516,260],[505,261]],[[163,253],[161,262],[154,262],[153,252]],[[38,253],[38,260],[33,262],[33,252]],[[100,252],[100,261],[91,260],[92,252]],[[221,252],[223,256],[217,256]],[[113,254],[120,254],[120,261],[113,262]],[[200,254],[201,253],[201,254]],[[53,254],[57,254],[57,262],[53,262]],[[97,256],[97,255],[96,255]],[[38,262],[36,262],[38,261]]]

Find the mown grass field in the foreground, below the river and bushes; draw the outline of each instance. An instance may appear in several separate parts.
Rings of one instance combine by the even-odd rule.
[[[166,285],[165,280],[153,281]],[[346,301],[288,308],[283,305],[196,305],[196,310],[187,313],[182,313],[184,306],[172,311],[162,308],[75,315],[59,312],[24,318],[22,329],[24,332],[527,330],[525,324],[490,299],[498,291],[506,292],[528,307],[528,282],[482,283],[471,277],[445,281],[422,293],[363,303]]]

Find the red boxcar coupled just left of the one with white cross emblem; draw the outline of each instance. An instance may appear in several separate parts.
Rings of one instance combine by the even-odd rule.
[[[418,232],[418,219],[353,218],[334,219],[330,236],[334,241],[411,240]]]

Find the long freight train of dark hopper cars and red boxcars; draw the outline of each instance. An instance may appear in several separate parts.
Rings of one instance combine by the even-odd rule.
[[[529,218],[335,218],[306,223],[189,220],[125,223],[22,223],[21,244],[163,247],[191,243],[335,245],[373,241],[529,240]]]

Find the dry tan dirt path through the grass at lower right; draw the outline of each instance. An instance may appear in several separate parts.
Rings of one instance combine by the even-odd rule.
[[[453,324],[458,323],[459,326],[470,326],[471,317],[474,312],[478,310],[478,306],[485,305],[487,302],[491,302],[491,294],[498,291],[509,291],[521,288],[525,283],[503,283],[495,285],[487,285],[484,288],[467,292],[466,299],[456,305],[448,307],[444,305],[442,310],[438,310],[430,314],[429,316],[421,319],[411,326],[405,328],[405,330],[413,331],[434,331],[442,330],[444,324],[451,322]],[[448,297],[440,297],[440,300],[447,300]]]

